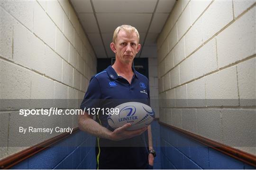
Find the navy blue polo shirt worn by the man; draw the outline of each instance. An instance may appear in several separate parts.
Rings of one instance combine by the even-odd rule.
[[[91,77],[84,95],[81,109],[101,108],[96,121],[113,131],[108,125],[108,109],[130,101],[150,106],[148,79],[132,68],[131,83],[118,76],[110,65],[104,71]],[[104,113],[103,113],[104,112]],[[141,135],[121,141],[98,138],[96,141],[96,160],[99,169],[146,169],[148,166],[147,131]],[[97,168],[98,168],[97,167]]]

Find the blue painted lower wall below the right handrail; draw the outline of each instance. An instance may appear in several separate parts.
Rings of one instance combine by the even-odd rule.
[[[165,126],[160,134],[162,169],[255,169]]]

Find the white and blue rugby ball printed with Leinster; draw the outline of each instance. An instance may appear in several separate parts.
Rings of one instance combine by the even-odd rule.
[[[130,123],[131,126],[127,130],[137,130],[150,125],[155,118],[154,110],[139,102],[123,103],[114,110],[119,111],[111,113],[108,117],[108,123],[114,129]]]

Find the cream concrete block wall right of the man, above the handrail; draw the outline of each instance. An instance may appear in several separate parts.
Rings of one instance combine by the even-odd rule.
[[[161,122],[256,155],[255,6],[176,1],[157,39]]]

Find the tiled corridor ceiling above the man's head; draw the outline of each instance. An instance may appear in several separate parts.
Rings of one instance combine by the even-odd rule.
[[[175,0],[70,0],[97,58],[115,57],[110,49],[113,32],[122,24],[140,34],[136,57],[156,57],[156,38]]]

